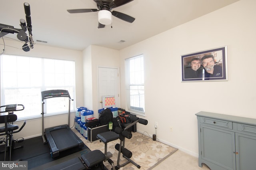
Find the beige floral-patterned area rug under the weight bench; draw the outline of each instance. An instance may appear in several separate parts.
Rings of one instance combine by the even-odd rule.
[[[86,140],[83,136],[80,135],[76,130],[74,130],[76,134],[83,140],[84,144],[90,148],[90,150],[101,150],[104,153],[104,143],[100,142],[100,140],[96,140],[94,142],[90,142]],[[116,144],[120,144],[120,140],[114,140],[112,142],[108,142],[108,152],[113,154],[111,158],[114,162],[114,165],[117,165],[117,157],[118,150],[115,149]],[[152,140],[148,136],[145,136],[138,132],[132,132],[131,139],[125,139],[125,148],[132,152],[132,158],[134,162],[140,165],[140,170],[150,170],[162,162],[165,158],[173,154],[177,148],[173,148],[166,144],[163,144],[158,141]],[[119,164],[123,164],[127,160],[122,156],[120,156]],[[106,161],[104,165],[110,170],[111,165]],[[120,170],[136,170],[138,169],[132,163],[127,164],[120,168]]]

